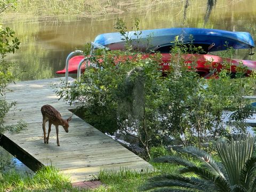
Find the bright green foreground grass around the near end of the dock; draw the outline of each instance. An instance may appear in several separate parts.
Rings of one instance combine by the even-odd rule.
[[[177,170],[175,165],[157,163],[155,172],[139,173],[130,170],[120,172],[101,171],[99,179],[104,186],[97,189],[73,188],[68,177],[61,174],[54,167],[45,167],[38,171],[33,178],[21,176],[18,173],[10,172],[0,174],[0,191],[138,191],[148,178],[160,173],[173,173]]]

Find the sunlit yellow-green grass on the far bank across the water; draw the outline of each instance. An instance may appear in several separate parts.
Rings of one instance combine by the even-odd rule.
[[[18,0],[16,12],[40,15],[79,15],[95,18],[106,14],[121,14],[123,12],[141,12],[152,7],[173,2],[174,0]]]

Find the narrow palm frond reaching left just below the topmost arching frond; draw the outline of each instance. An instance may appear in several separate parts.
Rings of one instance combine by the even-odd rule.
[[[194,163],[191,163],[185,158],[181,158],[178,156],[163,156],[163,157],[157,157],[153,159],[153,162],[157,163],[173,163],[177,165],[182,165],[182,166],[196,166]]]

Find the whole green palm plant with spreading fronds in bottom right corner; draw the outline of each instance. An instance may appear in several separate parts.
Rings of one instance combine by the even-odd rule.
[[[167,191],[256,191],[256,157],[252,156],[254,138],[217,140],[217,150],[221,162],[216,162],[204,150],[186,147],[183,152],[197,158],[195,164],[184,157],[163,156],[155,162],[182,165],[180,174],[163,174],[155,176],[143,185],[141,190],[155,192]],[[194,173],[195,177],[185,177],[184,173]]]

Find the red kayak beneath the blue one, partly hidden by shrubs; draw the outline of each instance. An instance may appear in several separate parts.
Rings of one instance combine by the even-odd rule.
[[[168,70],[170,66],[171,54],[169,53],[161,53],[162,54],[162,63],[160,64],[163,66],[163,70]],[[147,58],[148,55],[144,55],[143,57]],[[78,55],[69,60],[68,65],[68,73],[76,74],[79,62],[84,59],[83,55]],[[193,61],[197,62],[196,70],[198,74],[202,77],[209,75],[210,70],[213,68],[217,71],[220,71],[222,68],[221,63],[223,59],[216,55],[210,54],[184,54],[183,59],[185,59],[186,63],[191,63]],[[122,60],[122,59],[121,59]],[[251,73],[251,70],[256,70],[256,61],[251,60],[239,60],[239,59],[225,59],[228,62],[232,63],[231,66],[231,73],[236,73],[236,66],[241,65],[241,63],[248,68],[247,75]],[[120,59],[118,59],[120,62]],[[90,63],[88,63],[90,66]],[[81,67],[82,72],[85,69],[85,65]],[[57,74],[65,74],[66,69],[59,70],[56,72]]]

